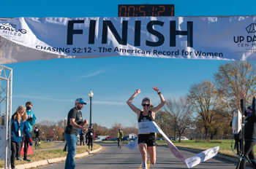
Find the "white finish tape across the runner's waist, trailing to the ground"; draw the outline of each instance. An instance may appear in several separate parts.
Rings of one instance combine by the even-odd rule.
[[[216,156],[219,151],[219,146],[216,146],[211,149],[207,149],[204,152],[200,152],[198,154],[195,154],[193,157],[189,157],[185,160],[181,152],[178,151],[177,147],[170,141],[170,139],[165,135],[165,133],[158,127],[157,123],[155,122],[139,122],[139,134],[143,133],[160,133],[162,134],[162,137],[165,139],[165,142],[167,146],[169,147],[170,151],[173,153],[173,155],[181,160],[181,162],[184,163],[184,165],[187,165],[187,168],[192,168],[195,165],[200,164],[201,162],[204,162],[206,160],[211,159],[212,157]],[[138,147],[138,143],[135,141],[131,141],[129,144],[127,144],[128,148],[131,150],[134,150]]]

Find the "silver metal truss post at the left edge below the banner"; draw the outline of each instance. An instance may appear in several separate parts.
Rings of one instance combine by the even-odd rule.
[[[6,81],[3,86],[2,81]],[[5,104],[5,156],[4,168],[10,168],[10,153],[11,153],[11,117],[12,117],[12,68],[0,65],[0,114],[1,105]]]

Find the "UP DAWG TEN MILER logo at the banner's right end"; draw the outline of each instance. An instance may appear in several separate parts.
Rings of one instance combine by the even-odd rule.
[[[234,42],[238,44],[238,47],[249,47],[249,42],[252,43],[252,46],[256,46],[256,23],[248,25],[245,29],[248,34],[254,35],[234,36]]]

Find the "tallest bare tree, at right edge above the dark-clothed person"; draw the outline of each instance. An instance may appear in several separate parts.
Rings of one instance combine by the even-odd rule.
[[[222,93],[222,101],[229,111],[240,107],[240,93],[244,92],[251,101],[256,89],[256,65],[248,61],[233,61],[225,63],[218,68],[214,74],[217,88]]]

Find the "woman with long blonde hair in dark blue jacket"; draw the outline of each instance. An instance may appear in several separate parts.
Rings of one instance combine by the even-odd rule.
[[[26,122],[26,109],[24,106],[18,106],[18,109],[15,111],[15,114],[12,115],[11,125],[11,168],[14,169],[15,157],[17,157],[17,154],[19,153],[23,131],[24,133],[26,133],[26,139],[28,140],[29,145],[33,145],[33,141],[28,130],[28,123]]]

